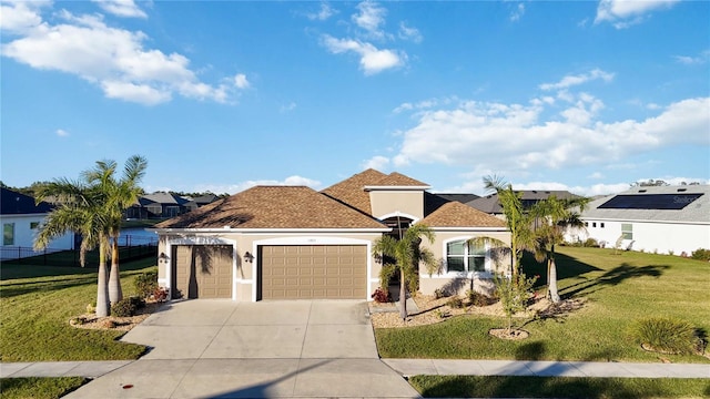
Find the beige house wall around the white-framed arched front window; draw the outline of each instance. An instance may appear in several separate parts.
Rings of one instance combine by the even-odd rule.
[[[436,242],[429,244],[423,242],[436,259],[439,259],[440,269],[429,276],[425,269],[419,270],[419,291],[425,295],[434,295],[436,289],[443,289],[449,295],[464,294],[467,289],[475,288],[478,291],[490,294],[493,290],[493,273],[459,273],[447,272],[446,244],[452,241],[469,239],[474,237],[490,237],[510,245],[510,232],[507,231],[437,231]],[[509,270],[510,256],[506,255],[496,264],[490,257],[486,258],[486,268],[491,272],[507,273]],[[473,286],[471,286],[473,282]]]

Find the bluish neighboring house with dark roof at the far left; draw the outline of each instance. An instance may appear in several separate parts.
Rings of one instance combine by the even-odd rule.
[[[52,206],[45,202],[34,204],[34,198],[7,188],[0,193],[0,219],[2,225],[2,259],[17,259],[36,255],[32,249],[37,229],[44,222]],[[50,243],[50,250],[72,249],[74,235],[65,234]]]

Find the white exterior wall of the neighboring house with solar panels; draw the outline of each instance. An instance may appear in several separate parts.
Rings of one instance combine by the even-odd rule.
[[[621,236],[621,225],[631,224],[632,239],[623,239],[621,248],[658,254],[690,254],[710,247],[710,225],[662,222],[585,219],[586,231],[567,232],[570,242],[595,238],[600,245],[613,247]],[[604,224],[604,227],[601,227]]]

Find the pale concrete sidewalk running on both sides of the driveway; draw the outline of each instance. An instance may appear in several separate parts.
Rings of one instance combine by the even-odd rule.
[[[3,362],[0,378],[98,378],[135,360]],[[621,378],[708,378],[710,365],[527,360],[382,359],[403,376],[537,376]]]

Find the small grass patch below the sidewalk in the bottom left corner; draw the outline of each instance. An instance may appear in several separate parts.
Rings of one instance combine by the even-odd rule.
[[[2,378],[0,399],[55,399],[75,390],[88,381],[83,377]]]

